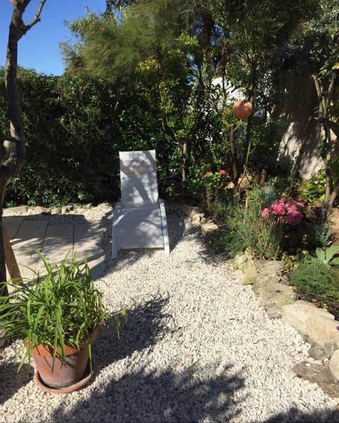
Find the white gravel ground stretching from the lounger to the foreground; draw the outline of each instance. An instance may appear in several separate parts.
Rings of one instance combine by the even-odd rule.
[[[84,212],[107,226],[107,259],[110,211]],[[28,370],[16,374],[14,343],[0,350],[0,422],[339,422],[338,402],[292,373],[309,345],[267,317],[230,264],[204,255],[183,216],[168,220],[169,257],[126,252],[97,282],[110,310],[130,311],[119,341],[102,329],[95,380],[43,393]]]

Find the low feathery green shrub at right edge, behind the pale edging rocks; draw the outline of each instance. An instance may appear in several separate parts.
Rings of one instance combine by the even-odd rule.
[[[339,274],[319,259],[305,259],[292,272],[291,282],[318,300],[339,304]]]

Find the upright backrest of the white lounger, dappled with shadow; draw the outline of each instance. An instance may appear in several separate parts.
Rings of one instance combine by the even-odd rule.
[[[120,152],[122,207],[141,207],[159,200],[155,150]]]

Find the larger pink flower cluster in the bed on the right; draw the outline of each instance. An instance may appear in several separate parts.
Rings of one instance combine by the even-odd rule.
[[[285,223],[297,226],[304,218],[304,202],[292,199],[274,202],[261,212],[261,217],[270,223]]]

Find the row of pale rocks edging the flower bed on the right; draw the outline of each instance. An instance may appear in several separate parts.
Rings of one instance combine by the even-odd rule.
[[[254,260],[249,252],[238,255],[233,267],[242,285],[252,285],[259,305],[271,319],[282,318],[311,343],[310,357],[328,360],[335,380],[339,380],[339,321],[326,309],[297,300],[291,286],[280,275],[282,262]]]

